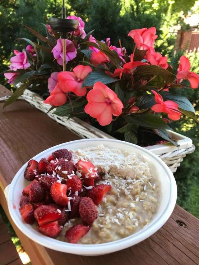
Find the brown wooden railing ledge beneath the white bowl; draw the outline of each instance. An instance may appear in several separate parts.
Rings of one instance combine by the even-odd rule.
[[[0,96],[9,93],[3,87],[0,91]],[[10,219],[3,189],[19,168],[44,149],[78,138],[22,100],[4,111],[2,105],[0,103],[0,202]],[[150,238],[131,248],[97,257],[44,248],[23,235],[13,222],[12,225],[33,265],[199,264],[199,220],[178,205],[165,225]]]

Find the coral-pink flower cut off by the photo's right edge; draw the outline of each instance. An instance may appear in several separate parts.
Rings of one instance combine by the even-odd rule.
[[[199,84],[199,75],[197,75],[194,72],[190,72],[190,62],[189,59],[186,56],[180,57],[180,64],[178,67],[178,74],[177,79],[178,82],[181,83],[183,79],[189,80],[189,83],[191,85],[191,88],[197,88]]]

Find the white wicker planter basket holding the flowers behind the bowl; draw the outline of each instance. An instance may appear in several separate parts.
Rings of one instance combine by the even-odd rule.
[[[25,99],[25,101],[29,102],[32,106],[46,113],[51,119],[67,127],[81,138],[114,139],[112,136],[84,121],[81,121],[78,118],[67,119],[67,117],[59,117],[53,114],[54,110],[47,113],[51,106],[49,104],[44,104],[43,98],[28,89],[24,91],[24,94],[20,98]],[[180,162],[183,161],[183,158],[187,154],[194,152],[195,146],[192,144],[192,140],[190,138],[173,131],[168,132],[173,139],[178,140],[179,147],[167,143],[147,146],[145,148],[159,156],[169,166],[172,172],[176,172],[177,167],[180,166]]]

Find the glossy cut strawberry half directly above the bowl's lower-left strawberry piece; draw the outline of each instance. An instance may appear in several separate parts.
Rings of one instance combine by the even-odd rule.
[[[35,220],[37,220],[39,226],[47,224],[49,222],[56,221],[62,217],[62,214],[57,211],[52,205],[41,205],[36,208],[34,212]]]

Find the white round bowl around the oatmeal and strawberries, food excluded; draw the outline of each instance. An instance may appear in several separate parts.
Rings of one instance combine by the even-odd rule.
[[[103,255],[128,248],[141,242],[142,240],[145,240],[147,237],[154,234],[158,229],[160,229],[160,227],[163,226],[167,221],[174,209],[177,199],[177,186],[174,176],[171,173],[169,167],[167,167],[167,165],[160,158],[140,146],[114,139],[83,139],[53,146],[39,153],[32,159],[39,161],[43,157],[47,158],[53,151],[60,148],[76,150],[90,146],[97,146],[100,144],[104,144],[104,146],[109,148],[117,148],[123,151],[128,151],[130,153],[143,155],[145,161],[147,161],[149,164],[151,174],[159,179],[161,191],[160,206],[158,212],[155,214],[149,225],[133,235],[103,244],[71,244],[42,235],[36,230],[34,226],[22,222],[18,209],[21,199],[21,192],[23,188],[27,186],[28,183],[30,183],[25,180],[23,176],[25,167],[27,166],[26,163],[16,173],[14,179],[12,180],[8,192],[8,208],[16,226],[31,240],[34,240],[44,247],[66,253],[85,256]]]

